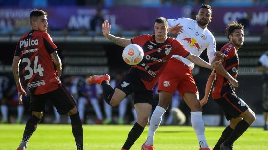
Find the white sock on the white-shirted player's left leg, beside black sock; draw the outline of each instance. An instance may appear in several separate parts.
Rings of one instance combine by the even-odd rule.
[[[165,112],[166,110],[160,106],[156,106],[155,110],[153,111],[150,120],[146,145],[153,145],[154,134],[156,132],[156,129],[159,127],[162,120],[162,116]]]

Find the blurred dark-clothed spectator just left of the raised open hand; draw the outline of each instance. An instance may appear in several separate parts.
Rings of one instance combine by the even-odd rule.
[[[101,14],[101,10],[98,9],[96,15],[90,21],[90,30],[101,32],[102,31],[102,23],[104,22],[103,16]]]

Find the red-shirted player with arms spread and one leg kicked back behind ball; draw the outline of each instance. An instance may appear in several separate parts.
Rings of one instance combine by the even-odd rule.
[[[155,35],[141,35],[130,40],[111,35],[110,29],[109,22],[105,20],[102,25],[102,32],[106,38],[122,47],[132,43],[138,44],[144,51],[143,60],[138,65],[131,67],[115,89],[109,84],[109,75],[94,75],[88,79],[89,83],[102,85],[105,101],[111,106],[117,106],[127,95],[134,92],[134,106],[138,120],[129,132],[128,138],[122,147],[122,150],[129,150],[148,123],[152,110],[153,86],[158,81],[172,55],[176,54],[185,57],[199,66],[210,69],[213,66],[217,66],[220,61],[210,65],[198,56],[189,53],[178,40],[168,37],[168,22],[163,17],[155,20]]]

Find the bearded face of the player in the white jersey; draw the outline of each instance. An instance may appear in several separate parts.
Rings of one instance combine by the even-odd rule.
[[[211,22],[212,19],[211,15],[212,12],[210,9],[207,8],[199,9],[198,14],[196,15],[196,21],[198,25],[207,26],[209,22]]]

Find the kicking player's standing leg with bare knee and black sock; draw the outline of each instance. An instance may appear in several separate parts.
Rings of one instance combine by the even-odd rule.
[[[134,124],[131,131],[128,134],[128,138],[121,150],[129,150],[134,142],[139,138],[144,130],[144,127],[149,121],[149,115],[152,110],[152,105],[149,103],[137,103],[135,109],[138,116],[138,121]]]

